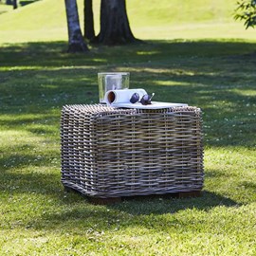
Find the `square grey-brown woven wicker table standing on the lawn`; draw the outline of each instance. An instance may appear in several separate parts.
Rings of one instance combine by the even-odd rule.
[[[62,183],[89,197],[200,192],[201,111],[66,105],[61,120]]]

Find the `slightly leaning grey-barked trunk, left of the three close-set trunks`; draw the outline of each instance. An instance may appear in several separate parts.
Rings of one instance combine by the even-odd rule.
[[[64,0],[68,28],[68,52],[84,52],[88,50],[82,37],[76,0]]]

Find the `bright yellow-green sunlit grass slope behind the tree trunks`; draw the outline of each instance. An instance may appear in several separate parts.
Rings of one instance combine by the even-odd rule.
[[[138,0],[127,3],[128,17],[135,36],[143,40],[215,39],[256,40],[253,29],[245,29],[233,20],[236,3],[223,1],[151,0],[145,6]],[[96,33],[100,30],[101,1],[93,1]],[[1,5],[0,7],[5,6]],[[83,1],[78,1],[81,27]],[[0,9],[1,11],[1,9]],[[47,15],[45,13],[47,12]],[[33,21],[33,22],[31,22]],[[42,41],[67,41],[67,25],[63,2],[38,1],[26,7],[9,10],[0,16],[0,44]],[[143,50],[140,53],[148,55]]]

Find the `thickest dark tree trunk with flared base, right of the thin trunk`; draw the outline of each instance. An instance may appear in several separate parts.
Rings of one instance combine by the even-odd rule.
[[[114,46],[138,41],[129,25],[125,0],[101,0],[101,31],[95,42]]]

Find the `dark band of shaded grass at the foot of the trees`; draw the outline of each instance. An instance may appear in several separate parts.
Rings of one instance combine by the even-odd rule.
[[[114,66],[116,64],[129,66],[130,64],[141,63],[147,66],[148,64],[161,66],[162,64],[170,64],[176,58],[179,58],[179,64],[192,67],[194,62],[199,61],[197,58],[201,57],[229,57],[239,63],[245,60],[255,63],[254,53],[256,46],[253,43],[213,40],[191,42],[184,40],[154,40],[148,43],[129,46],[93,47],[89,52],[82,54],[66,53],[66,42],[63,41],[5,45],[0,47],[2,56],[0,66],[60,67],[86,64],[97,66],[110,63]],[[210,68],[208,70],[210,71]]]

